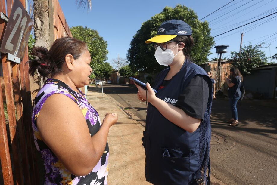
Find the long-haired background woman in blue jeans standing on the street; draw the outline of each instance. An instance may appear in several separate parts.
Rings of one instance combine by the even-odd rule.
[[[231,79],[225,78],[225,81],[229,87],[228,89],[228,97],[229,103],[232,111],[232,118],[227,121],[230,123],[230,126],[238,126],[238,111],[237,111],[237,103],[241,98],[241,82],[243,81],[243,76],[241,72],[236,67],[232,67],[230,69]]]

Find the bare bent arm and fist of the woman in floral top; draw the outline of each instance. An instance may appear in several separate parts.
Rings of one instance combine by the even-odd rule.
[[[92,137],[79,106],[63,94],[47,98],[37,118],[41,139],[72,174],[89,174],[101,158],[117,114],[106,114]]]

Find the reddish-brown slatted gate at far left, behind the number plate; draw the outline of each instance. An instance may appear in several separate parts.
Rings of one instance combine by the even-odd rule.
[[[18,1],[25,7],[25,0]],[[13,0],[0,0],[0,12],[4,12],[9,17],[13,2]],[[6,26],[7,24],[0,19],[1,43]],[[29,65],[25,65],[27,60],[27,47],[20,64],[7,60],[7,55],[1,53],[0,184],[4,183],[5,185],[38,184],[36,148],[31,126],[32,105],[28,74]]]

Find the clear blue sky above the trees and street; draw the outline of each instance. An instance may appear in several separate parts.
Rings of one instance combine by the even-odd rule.
[[[126,58],[133,35],[140,29],[143,22],[163,11],[164,7],[174,8],[177,4],[185,5],[192,8],[201,19],[231,0],[92,1],[92,9],[89,12],[86,9],[77,9],[74,0],[59,0],[59,2],[70,27],[81,25],[95,29],[107,41],[109,51],[107,62],[111,63],[113,58],[117,58],[117,54]],[[222,8],[201,20],[209,22],[212,36],[277,12],[277,0],[235,0],[224,8],[226,9]],[[241,32],[244,32],[243,45],[248,45],[249,41],[252,44],[260,44],[265,39],[263,42],[266,43],[261,49],[266,52],[266,55],[270,56],[271,53],[272,56],[277,53],[277,14],[215,37],[215,43],[216,45],[229,45],[230,47],[227,48],[229,52],[239,51]],[[215,53],[216,49],[213,48],[211,52]],[[230,57],[229,55],[230,53],[225,53],[223,57]],[[211,54],[208,58],[216,56],[217,54]],[[273,61],[276,62],[276,60]]]

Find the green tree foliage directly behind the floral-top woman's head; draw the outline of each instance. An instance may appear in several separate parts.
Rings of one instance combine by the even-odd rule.
[[[90,66],[93,69],[93,73],[98,78],[106,78],[106,72],[110,70],[110,65],[104,63],[104,61],[108,59],[107,41],[105,41],[103,37],[100,37],[96,30],[87,27],[71,27],[70,31],[74,38],[87,44],[92,59]],[[108,68],[104,69],[103,66]]]

